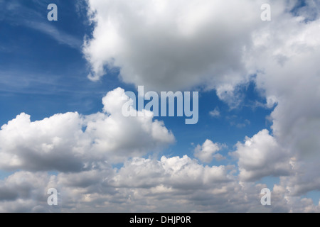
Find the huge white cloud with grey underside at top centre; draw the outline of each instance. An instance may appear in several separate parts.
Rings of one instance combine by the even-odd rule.
[[[120,67],[124,82],[163,91],[208,80],[213,87],[242,81],[243,50],[262,23],[262,1],[87,3],[95,22],[93,37],[83,48],[90,79],[100,79],[105,67]]]

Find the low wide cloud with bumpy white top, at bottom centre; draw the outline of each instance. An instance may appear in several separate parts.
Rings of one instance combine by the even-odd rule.
[[[116,187],[155,187],[172,189],[203,189],[230,181],[225,166],[203,166],[190,157],[161,157],[161,160],[134,158],[111,180]]]

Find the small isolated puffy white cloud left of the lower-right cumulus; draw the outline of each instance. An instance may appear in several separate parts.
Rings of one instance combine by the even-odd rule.
[[[218,143],[213,143],[211,140],[206,140],[203,145],[197,145],[194,150],[194,157],[197,157],[201,162],[209,163],[215,157],[215,153],[220,150],[220,145]],[[220,156],[217,156],[221,159]]]

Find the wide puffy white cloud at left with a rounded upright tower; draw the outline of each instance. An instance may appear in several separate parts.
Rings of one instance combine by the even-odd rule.
[[[105,113],[55,114],[34,122],[19,114],[1,127],[1,169],[80,171],[96,162],[122,162],[159,151],[174,142],[174,135],[152,116],[122,116],[127,99],[118,88],[102,99]]]

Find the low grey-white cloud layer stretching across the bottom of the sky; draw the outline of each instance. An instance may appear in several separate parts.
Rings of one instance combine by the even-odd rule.
[[[205,167],[187,156],[134,158],[120,170],[99,166],[58,175],[20,171],[0,182],[7,194],[0,199],[0,211],[319,211],[311,199],[287,196],[281,184],[272,189],[272,206],[263,207],[260,191],[267,186],[239,183],[232,172],[233,167]],[[58,189],[58,206],[47,204],[51,187]]]

